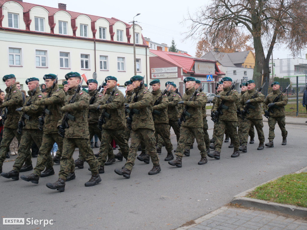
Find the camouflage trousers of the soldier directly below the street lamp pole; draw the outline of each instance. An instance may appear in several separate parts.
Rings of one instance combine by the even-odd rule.
[[[131,144],[129,148],[128,159],[125,164],[125,168],[132,170],[135,158],[137,156],[138,146],[144,141],[148,154],[150,155],[153,166],[159,165],[159,156],[155,147],[156,138],[154,137],[154,131],[147,128],[139,128],[137,130],[131,130]]]

